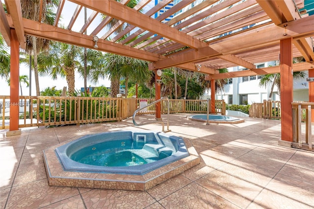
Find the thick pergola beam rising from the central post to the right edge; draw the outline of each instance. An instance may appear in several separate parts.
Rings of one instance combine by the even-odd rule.
[[[155,63],[156,68],[163,69],[180,64],[180,62],[197,62],[206,57],[218,57],[222,54],[234,54],[278,44],[281,39],[293,37],[310,37],[314,35],[314,15],[291,21],[279,26],[268,25],[243,33],[241,36],[225,38],[219,42],[209,44],[211,48],[200,48],[198,51],[189,51],[173,55]],[[265,37],[268,37],[265,39]],[[214,49],[214,50],[212,50]],[[219,52],[219,53],[217,53]]]

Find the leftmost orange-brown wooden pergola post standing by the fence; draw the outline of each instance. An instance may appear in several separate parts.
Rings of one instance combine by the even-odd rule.
[[[19,135],[19,67],[20,44],[15,29],[10,29],[10,128],[7,136]]]

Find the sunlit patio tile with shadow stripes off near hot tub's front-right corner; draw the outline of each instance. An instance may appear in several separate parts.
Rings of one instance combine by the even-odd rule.
[[[195,182],[240,208],[246,208],[262,190],[261,186],[218,170]]]

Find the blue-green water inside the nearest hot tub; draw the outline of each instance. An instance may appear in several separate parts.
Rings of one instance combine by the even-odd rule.
[[[155,162],[167,157],[149,152],[143,149],[143,146],[143,142],[134,142],[133,144],[131,139],[108,141],[78,150],[70,158],[89,165],[133,166]]]

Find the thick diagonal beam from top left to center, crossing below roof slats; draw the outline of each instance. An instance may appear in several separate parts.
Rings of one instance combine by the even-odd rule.
[[[146,16],[134,9],[131,9],[117,1],[114,0],[70,0],[74,3],[81,4],[90,8],[92,10],[98,11],[100,13],[109,15],[118,20],[130,23],[133,26],[138,26],[145,30],[157,33],[163,37],[169,38],[171,40],[177,41],[184,46],[191,47],[193,49],[198,49],[204,47],[207,44],[196,38],[193,38],[173,27],[167,26],[159,21]],[[105,3],[105,5],[104,5]]]

